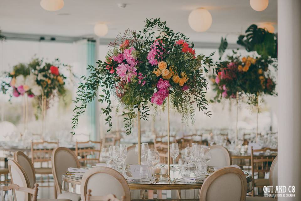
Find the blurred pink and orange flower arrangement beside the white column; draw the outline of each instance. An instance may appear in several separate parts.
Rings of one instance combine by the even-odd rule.
[[[217,75],[210,77],[214,90],[214,100],[236,98],[237,92],[248,97],[248,103],[256,105],[258,96],[262,94],[277,95],[275,79],[271,76],[269,66],[277,68],[275,59],[263,57],[240,57],[234,54],[227,56],[228,62]]]

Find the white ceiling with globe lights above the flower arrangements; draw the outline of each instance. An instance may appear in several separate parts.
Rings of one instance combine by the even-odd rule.
[[[277,30],[277,0],[270,0],[262,12],[253,10],[249,0],[64,1],[64,8],[49,12],[40,7],[40,0],[0,0],[0,28],[24,34],[91,36],[96,22],[106,22],[109,31],[105,38],[114,38],[127,28],[141,30],[145,18],[160,17],[167,26],[195,42],[219,42],[225,35],[229,42],[235,42],[239,33],[259,22],[272,22]],[[117,3],[128,5],[121,9]],[[188,25],[189,13],[199,7],[207,8],[213,19],[204,33],[195,32]]]

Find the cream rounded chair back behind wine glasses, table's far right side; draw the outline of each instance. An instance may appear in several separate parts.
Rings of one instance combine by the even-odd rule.
[[[220,145],[212,145],[209,147],[211,151],[211,159],[208,166],[224,167],[232,165],[232,158],[228,149]]]

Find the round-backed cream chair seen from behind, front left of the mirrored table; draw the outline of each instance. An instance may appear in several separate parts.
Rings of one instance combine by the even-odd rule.
[[[95,196],[114,194],[117,198],[124,196],[125,201],[131,200],[129,185],[125,178],[109,167],[95,167],[87,171],[81,181],[81,198],[86,201],[87,189],[95,192]]]

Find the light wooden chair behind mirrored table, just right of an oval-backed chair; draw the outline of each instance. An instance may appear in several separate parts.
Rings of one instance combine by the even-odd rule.
[[[96,147],[85,147],[81,148],[79,144],[94,144]],[[86,141],[86,142],[76,142],[75,155],[77,155],[82,166],[87,166],[88,164],[95,164],[100,162],[102,142],[101,141]]]

